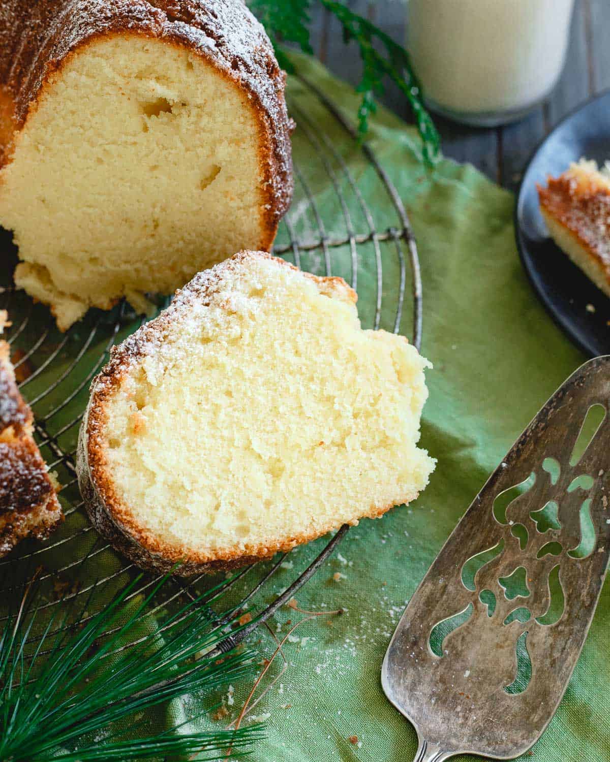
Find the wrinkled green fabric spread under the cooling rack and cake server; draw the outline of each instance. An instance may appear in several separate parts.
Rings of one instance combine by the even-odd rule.
[[[297,56],[295,60],[299,74],[315,83],[353,122],[358,96],[352,89],[332,78],[313,59]],[[361,147],[302,80],[291,75],[288,91],[291,112],[299,123],[294,133],[296,193],[290,214],[294,235],[300,240],[315,240],[320,225],[333,239],[348,239],[350,228],[356,234],[368,232],[369,220],[345,175],[345,166],[370,207],[375,229],[385,232],[400,226],[390,197]],[[303,624],[285,644],[287,669],[251,712],[255,716],[269,714],[268,738],[255,746],[250,757],[256,762],[393,762],[413,758],[415,732],[380,689],[380,665],[393,629],[409,596],[487,475],[554,389],[585,359],[551,322],[525,279],[515,251],[511,194],[474,168],[454,162],[441,161],[432,174],[425,174],[413,129],[381,108],[371,120],[371,147],[408,209],[418,242],[424,285],[422,352],[434,363],[427,376],[430,397],[422,424],[422,446],[438,459],[438,466],[429,488],[415,504],[395,508],[381,520],[364,520],[350,530],[335,556],[297,594],[303,609],[343,607],[345,613]],[[329,171],[345,197],[345,206],[339,203]],[[315,200],[319,219],[308,197]],[[289,240],[289,231],[282,226],[278,245],[285,246]],[[406,255],[406,250],[402,253]],[[374,326],[380,298],[379,325],[393,330],[400,295],[400,260],[395,243],[381,241],[378,250],[371,240],[358,245],[357,251],[352,251],[349,243],[332,248],[328,252],[332,274],[351,280],[352,255],[363,325]],[[291,251],[285,256],[294,261]],[[382,279],[378,294],[379,264]],[[326,274],[324,251],[302,252],[300,265]],[[410,336],[408,267],[406,273],[406,299],[398,322],[400,331]],[[11,317],[16,319],[20,311],[26,314],[29,309],[30,300],[16,296]],[[99,367],[100,355],[111,341],[116,315],[104,317],[108,320],[105,332],[95,330],[95,317],[88,315],[71,332],[67,344],[62,344],[62,338],[52,330],[39,354],[33,355],[32,364],[40,367],[48,358],[53,361],[49,360],[46,370],[24,386],[27,398],[35,399],[79,357],[66,379],[34,405],[37,420],[43,421],[47,411],[53,411],[79,389],[63,412],[46,424],[66,451],[75,447],[77,434],[77,427],[70,426],[69,421],[84,408],[88,378]],[[48,321],[47,309],[35,307],[17,344],[26,350],[32,347],[40,335],[40,325]],[[136,322],[130,323],[117,338],[135,327]],[[49,447],[43,448],[43,454],[50,462],[56,458]],[[61,499],[66,507],[75,507],[79,495],[73,474],[62,464],[56,469],[59,479],[68,485]],[[56,537],[67,537],[75,530],[81,532],[76,539],[43,556],[32,556],[31,570],[41,560],[50,569],[65,567],[63,577],[71,580],[91,583],[117,575],[122,562],[109,550],[96,554],[100,546],[95,545],[95,532],[88,531],[81,511],[70,514]],[[250,610],[259,610],[291,584],[328,539],[296,549],[252,601]],[[86,552],[92,552],[91,558],[82,566],[75,565]],[[27,577],[24,568],[15,565],[14,570]],[[335,581],[337,572],[342,577]],[[254,574],[260,572],[246,575],[237,586],[236,597],[249,589]],[[92,598],[90,610],[124,584],[126,576],[117,575],[101,588]],[[3,603],[0,600],[0,607]],[[294,624],[300,616],[291,609],[281,610],[270,627],[281,638],[290,629],[287,620]],[[607,762],[610,758],[609,622],[610,589],[606,585],[567,694],[534,748],[536,760]],[[268,630],[260,628],[251,645],[269,656],[275,642]],[[280,658],[274,661],[262,687],[278,676],[281,666]],[[150,716],[150,729],[172,727],[221,700],[230,717],[214,721],[208,716],[199,724],[226,725],[236,719],[250,687],[236,686],[232,698],[227,687],[215,696],[188,696],[175,701],[165,711]],[[356,744],[348,740],[354,735],[358,736]]]

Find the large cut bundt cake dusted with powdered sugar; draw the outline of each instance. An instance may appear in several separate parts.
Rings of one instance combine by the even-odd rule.
[[[268,250],[291,122],[242,0],[2,0],[0,225],[65,330]]]

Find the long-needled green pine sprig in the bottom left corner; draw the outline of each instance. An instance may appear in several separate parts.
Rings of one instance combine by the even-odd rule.
[[[116,727],[114,723],[136,712],[194,691],[209,693],[256,669],[248,652],[211,655],[226,638],[226,625],[204,605],[204,596],[161,620],[151,617],[144,629],[149,604],[166,578],[146,597],[128,600],[140,579],[86,621],[81,611],[81,619],[77,616],[66,627],[63,607],[59,626],[52,616],[37,636],[37,610],[26,592],[0,633],[2,762],[136,760],[199,751],[207,759],[220,759],[226,748],[241,748],[262,737],[258,725],[195,733],[173,728],[143,738],[85,742],[70,751],[83,736]],[[108,632],[113,634],[106,636]],[[130,730],[133,735],[133,725]]]

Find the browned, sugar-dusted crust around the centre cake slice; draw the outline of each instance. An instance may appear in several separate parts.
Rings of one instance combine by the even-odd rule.
[[[119,347],[111,351],[110,362],[92,383],[92,395],[89,400],[85,417],[79,434],[77,453],[77,471],[79,487],[89,518],[95,528],[117,548],[141,568],[152,571],[170,571],[181,562],[175,573],[178,575],[194,575],[202,571],[218,571],[220,569],[236,568],[262,559],[271,558],[276,552],[287,552],[294,546],[307,543],[319,536],[319,533],[299,534],[284,539],[284,542],[269,546],[253,546],[244,555],[241,551],[219,553],[217,559],[210,561],[194,552],[180,552],[180,549],[162,543],[158,536],[147,532],[134,519],[129,508],[123,504],[116,491],[106,467],[104,456],[104,428],[106,423],[106,402],[111,398],[115,389],[130,367],[142,360],[146,355],[154,354],[156,347],[163,341],[165,331],[178,318],[181,312],[195,300],[203,299],[213,293],[220,276],[226,269],[233,268],[244,258],[264,257],[278,264],[278,267],[297,268],[288,262],[271,257],[265,252],[242,251],[233,258],[223,262],[211,271],[197,274],[191,283],[178,290],[172,304],[156,320],[144,325],[127,338]],[[339,298],[355,303],[357,296],[345,280],[340,277],[316,277],[304,274],[316,280],[323,286],[322,293],[334,292]],[[377,518],[393,507],[371,505],[366,517]],[[355,522],[357,523],[357,522]]]

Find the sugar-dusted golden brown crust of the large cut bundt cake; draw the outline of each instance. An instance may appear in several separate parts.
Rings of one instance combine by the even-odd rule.
[[[245,89],[258,116],[267,239],[292,197],[291,120],[285,75],[265,30],[241,0],[2,0],[0,167],[50,74],[79,46],[108,34],[140,34],[187,47]]]

